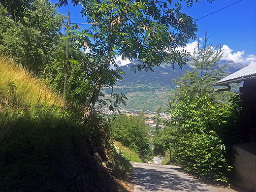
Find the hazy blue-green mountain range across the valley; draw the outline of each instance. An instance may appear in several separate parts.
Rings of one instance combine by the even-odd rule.
[[[192,61],[189,61],[182,68],[175,65],[173,69],[170,64],[160,64],[153,67],[154,71],[133,73],[131,66],[134,64],[137,64],[137,61],[120,67],[126,75],[114,86],[114,92],[123,93],[128,97],[127,105],[121,107],[132,110],[156,111],[160,106],[165,106],[168,96],[172,95],[176,86],[173,79],[178,79],[187,70],[193,69]],[[227,75],[247,66],[226,60],[221,60],[218,64],[228,64]],[[110,93],[110,90],[105,90],[106,95]]]

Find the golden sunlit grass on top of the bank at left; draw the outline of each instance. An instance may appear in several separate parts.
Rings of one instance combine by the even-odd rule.
[[[13,60],[0,55],[0,100],[6,102],[6,93],[15,89],[25,106],[44,105],[64,107],[64,100],[52,92],[32,73]]]

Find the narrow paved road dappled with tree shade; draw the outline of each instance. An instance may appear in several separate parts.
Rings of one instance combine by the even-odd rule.
[[[134,192],[236,192],[200,183],[172,165],[131,162]]]

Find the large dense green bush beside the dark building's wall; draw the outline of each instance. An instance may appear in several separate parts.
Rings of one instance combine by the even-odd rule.
[[[165,127],[172,136],[168,150],[176,163],[200,178],[226,182],[239,111],[237,96],[216,103],[208,95],[190,97],[184,92]]]

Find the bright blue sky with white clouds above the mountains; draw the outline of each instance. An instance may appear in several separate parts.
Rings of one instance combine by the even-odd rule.
[[[222,44],[223,59],[250,64],[256,62],[256,0],[237,1],[239,0],[214,0],[211,4],[207,0],[200,0],[199,3],[194,3],[192,8],[186,7],[186,1],[181,1],[181,4],[184,5],[183,12],[199,19],[235,3],[198,20],[197,37],[203,37],[207,31],[212,45]],[[57,0],[52,2],[55,3]],[[81,17],[80,7],[73,7],[71,3],[68,7],[58,8],[57,11],[66,15],[67,11],[70,11],[71,23],[86,23],[85,18]],[[194,47],[193,41],[187,45],[187,49],[191,51]],[[121,63],[127,64],[128,61],[121,61]]]

